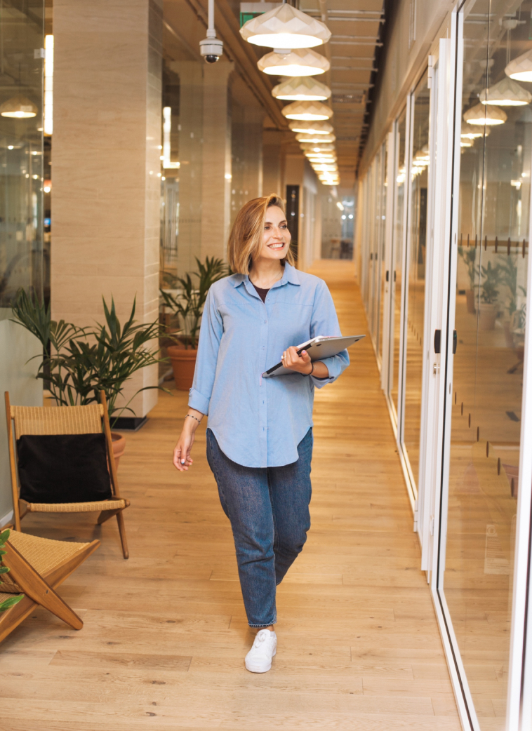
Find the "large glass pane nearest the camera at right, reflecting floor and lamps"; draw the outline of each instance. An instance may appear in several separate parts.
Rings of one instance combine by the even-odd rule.
[[[445,594],[480,727],[490,731],[505,728],[508,691],[532,112],[501,99],[501,86],[482,124],[467,112],[494,99],[508,61],[532,48],[531,10],[530,1],[478,0],[464,26]],[[510,91],[526,99],[532,84],[516,83],[523,92]]]

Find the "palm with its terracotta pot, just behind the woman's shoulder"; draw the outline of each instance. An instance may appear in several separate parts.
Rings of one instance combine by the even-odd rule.
[[[201,315],[209,287],[229,273],[228,265],[221,259],[206,257],[203,264],[198,257],[195,258],[198,270],[192,272],[192,275],[187,273],[184,277],[176,278],[179,287],[176,295],[160,289],[162,299],[178,320],[182,333],[179,334],[178,345],[168,346],[176,388],[180,391],[187,391],[192,387],[198,355]],[[192,281],[192,277],[195,277],[196,281]]]

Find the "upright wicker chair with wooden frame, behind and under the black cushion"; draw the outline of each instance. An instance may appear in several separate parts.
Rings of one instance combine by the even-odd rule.
[[[20,531],[20,519],[28,512],[91,512],[99,510],[98,525],[105,523],[105,520],[109,520],[113,515],[116,515],[122,553],[124,558],[129,558],[122,512],[129,506],[130,501],[121,498],[119,493],[105,393],[100,391],[100,404],[89,404],[89,406],[11,406],[10,394],[7,391],[5,392],[5,398],[15,529]],[[112,499],[77,503],[29,503],[19,498],[17,452],[13,441],[12,423],[15,427],[14,438],[16,441],[23,434],[97,434],[102,431],[102,421],[107,443],[110,482],[113,491]]]

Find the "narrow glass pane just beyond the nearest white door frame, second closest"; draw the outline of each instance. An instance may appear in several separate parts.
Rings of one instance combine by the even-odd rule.
[[[412,474],[419,475],[421,432],[430,90],[424,75],[413,94],[410,215],[408,220],[408,309],[406,313],[405,425],[403,441]]]

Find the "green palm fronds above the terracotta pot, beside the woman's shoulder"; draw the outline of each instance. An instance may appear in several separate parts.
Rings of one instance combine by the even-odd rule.
[[[184,341],[185,348],[190,346],[191,349],[198,346],[198,330],[209,287],[230,273],[228,265],[221,259],[206,257],[204,264],[198,257],[195,260],[198,271],[192,272],[192,276],[187,273],[184,277],[176,277],[176,285],[181,289],[179,295],[174,297],[171,292],[160,289],[165,305],[181,320],[184,335],[180,339]],[[192,281],[192,277],[196,277],[197,281]]]

